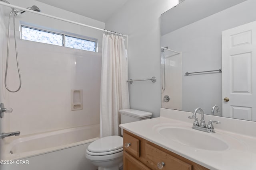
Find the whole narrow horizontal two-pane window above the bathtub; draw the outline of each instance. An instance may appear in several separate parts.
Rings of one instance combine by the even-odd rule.
[[[22,39],[96,52],[96,42],[22,25]],[[65,39],[65,41],[63,41]]]

